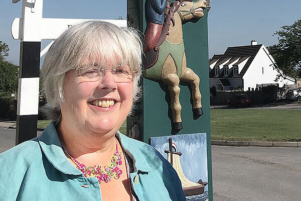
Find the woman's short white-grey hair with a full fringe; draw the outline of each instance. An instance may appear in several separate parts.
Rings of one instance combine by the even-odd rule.
[[[43,64],[43,83],[47,99],[44,112],[55,122],[61,118],[65,73],[84,64],[128,65],[133,73],[133,102],[140,96],[142,44],[139,33],[99,20],[68,28],[48,50]]]

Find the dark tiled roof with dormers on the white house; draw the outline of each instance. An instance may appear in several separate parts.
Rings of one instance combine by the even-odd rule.
[[[216,63],[216,66],[221,65],[227,59],[230,59],[230,61],[227,62],[227,64],[229,64],[230,62],[232,63],[233,61],[235,61],[237,59],[237,57],[239,57],[239,60],[235,64],[233,64],[233,65],[238,65],[241,62],[245,61],[247,58],[249,58],[247,60],[246,64],[244,65],[244,67],[242,68],[242,70],[240,71],[239,75],[236,76],[238,78],[242,78],[243,75],[245,74],[245,72],[247,71],[247,69],[249,68],[250,64],[252,63],[253,59],[255,58],[257,52],[261,48],[261,46],[262,46],[262,44],[228,47],[222,56],[219,55],[219,61]],[[218,57],[216,56],[216,58],[218,58]],[[233,60],[233,61],[231,61],[231,60]],[[225,65],[227,65],[227,64],[225,64]],[[213,70],[214,69],[212,69],[211,71],[213,71]],[[233,73],[229,73],[228,77],[232,77],[232,76],[233,76]],[[209,73],[209,77],[214,77],[214,71],[213,71],[213,73]]]

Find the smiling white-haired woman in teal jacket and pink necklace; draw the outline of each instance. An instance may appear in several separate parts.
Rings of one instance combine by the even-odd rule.
[[[0,183],[0,200],[186,200],[172,165],[118,131],[140,74],[136,31],[101,21],[66,30],[43,66],[52,122],[0,155],[0,179],[13,181]]]

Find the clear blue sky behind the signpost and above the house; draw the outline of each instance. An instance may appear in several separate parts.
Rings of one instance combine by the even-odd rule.
[[[86,3],[85,3],[86,2]],[[301,17],[300,0],[211,0],[208,18],[209,57],[229,46],[249,45],[252,39],[270,46],[277,43],[273,33]],[[7,60],[19,65],[20,41],[11,36],[14,18],[21,17],[22,2],[0,4],[0,41],[9,44]],[[126,17],[126,1],[44,1],[44,18],[116,19]],[[47,41],[42,42],[42,47]]]

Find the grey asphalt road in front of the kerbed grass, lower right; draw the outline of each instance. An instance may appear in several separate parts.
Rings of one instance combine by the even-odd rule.
[[[212,146],[214,201],[301,200],[301,148]]]

